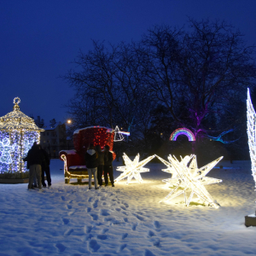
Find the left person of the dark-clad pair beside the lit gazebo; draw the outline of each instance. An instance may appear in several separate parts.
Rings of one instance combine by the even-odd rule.
[[[42,165],[44,163],[44,154],[38,147],[37,143],[32,145],[32,148],[28,151],[24,161],[27,161],[27,166],[29,167],[28,189],[32,189],[32,183],[35,176],[38,179],[38,188],[42,189],[41,172]]]

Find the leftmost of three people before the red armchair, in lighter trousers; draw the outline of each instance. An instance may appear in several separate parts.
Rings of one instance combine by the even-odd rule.
[[[94,149],[94,145],[90,144],[87,152],[84,155],[84,159],[86,162],[87,171],[89,174],[89,189],[91,189],[91,176],[93,174],[94,177],[94,186],[95,189],[99,189],[97,185],[97,165],[98,165],[98,154]]]

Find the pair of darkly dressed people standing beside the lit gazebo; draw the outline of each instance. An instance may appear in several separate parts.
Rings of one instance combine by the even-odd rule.
[[[42,186],[46,187],[44,173],[46,174],[48,187],[51,186],[49,154],[40,144],[36,142],[33,143],[32,148],[28,151],[26,158],[23,160],[27,162],[26,168],[29,169],[28,189],[34,189],[35,187],[42,189]]]

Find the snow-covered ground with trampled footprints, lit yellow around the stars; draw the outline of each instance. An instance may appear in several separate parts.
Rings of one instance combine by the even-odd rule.
[[[89,190],[64,184],[63,162],[52,160],[51,189],[0,184],[0,255],[255,255],[256,228],[244,225],[255,211],[250,161],[221,165],[232,169],[207,175],[223,179],[206,187],[215,209],[184,207],[183,196],[159,203],[170,192],[162,164],[146,166],[143,184]]]

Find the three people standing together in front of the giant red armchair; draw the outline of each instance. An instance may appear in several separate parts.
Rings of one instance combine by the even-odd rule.
[[[94,177],[95,189],[102,187],[102,172],[104,172],[105,186],[108,186],[108,176],[112,187],[113,183],[113,154],[109,151],[109,146],[104,147],[104,151],[100,145],[94,147],[93,144],[89,145],[87,152],[84,155],[87,171],[89,174],[89,189],[91,189],[91,177]],[[98,187],[99,184],[99,187]]]

